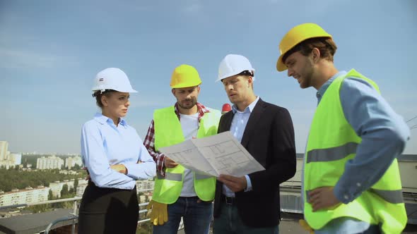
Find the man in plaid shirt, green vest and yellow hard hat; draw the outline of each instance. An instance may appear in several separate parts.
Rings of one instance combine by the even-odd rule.
[[[216,135],[221,112],[197,102],[201,79],[195,68],[181,65],[172,73],[174,106],[155,110],[145,147],[157,166],[151,221],[153,233],[177,233],[181,218],[186,233],[209,233],[216,178],[196,173],[160,153],[160,147]]]

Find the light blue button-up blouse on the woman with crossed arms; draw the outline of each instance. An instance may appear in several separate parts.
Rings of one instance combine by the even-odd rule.
[[[81,130],[81,156],[98,187],[131,190],[135,180],[153,178],[155,161],[143,146],[136,130],[121,119],[114,125],[111,118],[96,113]],[[141,161],[140,164],[138,162]],[[110,165],[123,164],[127,175],[114,171]]]

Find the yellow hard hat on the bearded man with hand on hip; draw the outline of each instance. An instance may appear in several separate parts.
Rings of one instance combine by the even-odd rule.
[[[322,27],[316,25],[315,23],[303,23],[302,25],[297,25],[288,31],[279,43],[279,52],[281,55],[279,56],[278,61],[276,61],[276,70],[287,70],[287,66],[282,61],[282,57],[284,54],[286,54],[286,52],[288,52],[290,49],[293,49],[293,47],[295,47],[300,42],[315,37],[331,38],[331,35],[329,35],[329,33],[324,31]]]

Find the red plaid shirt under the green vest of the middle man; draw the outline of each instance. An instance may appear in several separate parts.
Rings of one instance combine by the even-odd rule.
[[[209,113],[210,111],[209,109],[206,109],[206,106],[203,106],[202,104],[199,104],[198,102],[196,105],[197,105],[197,112],[199,113],[197,119],[200,124],[200,120],[201,118],[203,118],[204,113]],[[180,120],[180,111],[178,111],[177,103],[175,103],[175,113],[177,114],[178,120]],[[165,155],[160,152],[155,151],[155,127],[153,125],[153,120],[151,121],[151,125],[149,125],[148,133],[146,134],[145,142],[143,142],[143,144],[145,145],[146,149],[148,149],[148,152],[153,157],[153,160],[156,162],[156,171],[158,171],[158,173],[160,173],[161,176],[165,176],[165,170],[164,170],[165,169],[165,165],[164,165]]]

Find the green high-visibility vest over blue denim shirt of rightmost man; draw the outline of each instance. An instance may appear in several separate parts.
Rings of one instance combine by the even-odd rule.
[[[356,156],[356,148],[362,140],[346,121],[339,97],[341,84],[349,77],[366,80],[380,92],[375,82],[356,70],[350,70],[331,82],[324,93],[312,120],[305,151],[305,219],[313,229],[320,229],[334,218],[352,217],[380,225],[384,233],[401,233],[406,226],[407,216],[397,159],[375,185],[348,204],[313,212],[307,202],[311,190],[336,185],[346,162]]]

